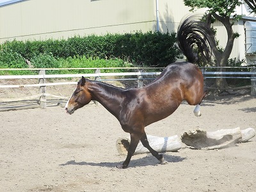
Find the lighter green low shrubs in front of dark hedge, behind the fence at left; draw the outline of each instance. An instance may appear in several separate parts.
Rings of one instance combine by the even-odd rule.
[[[118,58],[104,60],[100,58],[68,57],[55,58],[52,54],[40,53],[38,56],[32,56],[31,63],[33,68],[108,68],[108,67],[133,67],[131,63]],[[24,58],[13,51],[0,51],[0,68],[29,68]],[[101,72],[127,72],[122,69],[105,69]],[[47,70],[47,74],[76,74],[76,73],[94,73],[94,70]],[[38,74],[36,70],[0,70],[0,75],[22,75]]]

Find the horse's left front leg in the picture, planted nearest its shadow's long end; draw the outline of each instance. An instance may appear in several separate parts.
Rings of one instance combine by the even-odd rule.
[[[134,154],[136,147],[138,146],[140,138],[141,138],[141,134],[131,133],[131,143],[129,145],[127,157],[126,157],[124,163],[116,165],[117,168],[120,168],[120,169],[127,168],[127,166],[129,165],[129,163],[131,161],[131,157]]]

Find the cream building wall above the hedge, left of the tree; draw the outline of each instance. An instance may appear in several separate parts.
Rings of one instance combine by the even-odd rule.
[[[166,33],[177,31],[189,8],[177,0],[19,1],[0,6],[0,43],[156,31],[157,13],[159,31]]]

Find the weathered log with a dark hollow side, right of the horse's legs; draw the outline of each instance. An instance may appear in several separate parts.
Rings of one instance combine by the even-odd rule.
[[[214,132],[206,132],[202,129],[192,129],[181,136],[182,143],[197,149],[219,149],[230,147],[236,143],[246,142],[255,136],[253,128],[241,131],[235,129],[221,129]]]

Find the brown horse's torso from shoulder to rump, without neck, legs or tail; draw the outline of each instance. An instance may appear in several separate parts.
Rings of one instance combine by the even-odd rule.
[[[198,104],[203,92],[202,73],[191,63],[174,63],[143,88],[127,90],[120,111],[124,127],[147,126],[171,115],[182,100]],[[198,103],[196,103],[198,102]]]

